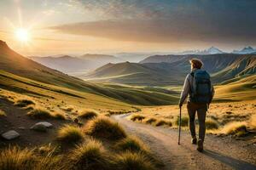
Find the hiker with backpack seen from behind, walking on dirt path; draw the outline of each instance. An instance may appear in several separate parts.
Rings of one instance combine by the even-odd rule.
[[[185,79],[183,91],[181,93],[179,107],[182,108],[184,100],[189,95],[187,109],[189,113],[189,130],[191,133],[191,143],[197,144],[197,150],[203,151],[203,143],[206,133],[207,110],[214,95],[214,88],[207,71],[201,70],[203,62],[201,59],[190,59],[191,72]],[[199,139],[195,133],[195,113],[197,112],[199,121]]]

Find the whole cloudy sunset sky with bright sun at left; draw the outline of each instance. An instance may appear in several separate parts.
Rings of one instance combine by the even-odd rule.
[[[40,56],[230,52],[256,47],[255,8],[254,0],[1,0],[0,39]]]

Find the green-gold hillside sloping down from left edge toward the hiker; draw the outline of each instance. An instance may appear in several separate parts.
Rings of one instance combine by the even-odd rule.
[[[145,90],[143,88],[117,85],[113,87],[109,84],[84,82],[79,78],[70,77],[31,59],[26,59],[11,50],[5,42],[0,43],[0,49],[0,87],[3,89],[38,95],[44,94],[41,92],[42,90],[73,97],[90,94],[89,98],[85,98],[90,99],[91,102],[96,102],[98,98],[109,100],[109,102],[119,100],[132,105],[170,105],[177,102],[175,93],[172,95],[171,91],[166,93],[162,92],[161,89],[158,91],[159,88]],[[37,88],[37,90],[29,92],[33,88]]]

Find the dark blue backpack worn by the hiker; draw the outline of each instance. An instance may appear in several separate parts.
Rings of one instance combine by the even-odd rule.
[[[207,104],[212,99],[212,83],[207,71],[197,70],[190,73],[193,77],[190,101],[194,103]]]

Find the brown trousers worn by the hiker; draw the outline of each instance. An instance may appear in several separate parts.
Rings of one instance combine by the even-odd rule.
[[[199,139],[204,141],[206,134],[206,116],[207,116],[207,104],[195,104],[188,102],[187,105],[189,113],[189,129],[192,138],[195,138],[195,112],[197,112],[199,122]]]

